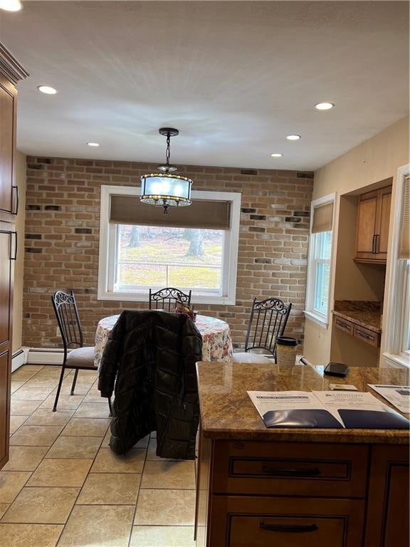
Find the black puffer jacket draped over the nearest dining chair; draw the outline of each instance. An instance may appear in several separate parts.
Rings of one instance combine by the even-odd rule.
[[[195,363],[202,338],[188,316],[123,311],[100,365],[102,397],[114,390],[110,447],[125,454],[157,430],[157,456],[194,459],[199,423]]]

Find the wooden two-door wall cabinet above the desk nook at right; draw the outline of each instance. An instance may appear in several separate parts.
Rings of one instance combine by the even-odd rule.
[[[391,185],[359,196],[355,261],[386,264],[390,204]]]

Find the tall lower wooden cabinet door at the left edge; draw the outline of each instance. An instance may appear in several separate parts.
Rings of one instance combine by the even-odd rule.
[[[0,469],[9,459],[11,380],[11,267],[10,231],[0,229]]]

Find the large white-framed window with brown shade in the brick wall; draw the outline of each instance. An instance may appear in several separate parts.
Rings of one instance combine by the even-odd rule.
[[[102,187],[98,298],[147,301],[149,288],[176,286],[194,303],[235,303],[241,194],[192,192],[167,215],[139,196]]]

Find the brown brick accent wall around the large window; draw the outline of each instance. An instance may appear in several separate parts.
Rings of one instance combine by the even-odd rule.
[[[139,185],[156,165],[134,162],[27,158],[23,345],[61,345],[51,295],[73,289],[86,343],[100,318],[145,303],[97,300],[101,184]],[[193,189],[242,192],[236,306],[196,306],[226,320],[243,345],[253,296],[290,301],[286,333],[303,340],[306,257],[312,173],[180,167]]]

